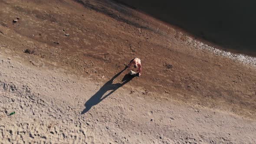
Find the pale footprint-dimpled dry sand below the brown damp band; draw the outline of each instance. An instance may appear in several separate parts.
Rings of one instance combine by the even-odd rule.
[[[150,97],[121,87],[115,79],[95,83],[63,69],[38,68],[19,56],[7,56],[0,54],[2,144],[256,142],[255,121],[180,105],[167,95]],[[13,111],[16,114],[8,116]]]

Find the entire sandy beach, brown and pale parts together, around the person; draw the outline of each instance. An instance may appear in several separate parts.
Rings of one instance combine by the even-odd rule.
[[[0,5],[3,144],[255,143],[255,58],[109,0]]]

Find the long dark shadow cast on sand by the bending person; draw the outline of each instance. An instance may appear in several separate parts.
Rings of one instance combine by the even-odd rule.
[[[127,69],[127,67],[125,67]],[[116,83],[113,84],[113,81],[115,78],[117,78],[122,72],[125,71],[125,69],[121,70],[121,72],[118,72],[112,79],[110,79],[108,82],[106,82],[99,90],[96,92],[88,101],[85,102],[85,109],[81,112],[81,114],[85,114],[87,111],[89,111],[94,105],[97,105],[100,103],[103,99],[107,98],[109,95],[111,95],[113,92],[115,92],[118,88],[122,87],[131,79],[133,79],[135,76],[126,74],[124,78],[122,79],[122,83]],[[138,75],[137,75],[138,76]],[[105,95],[103,98],[102,96],[108,92],[109,90],[112,90],[107,95]]]

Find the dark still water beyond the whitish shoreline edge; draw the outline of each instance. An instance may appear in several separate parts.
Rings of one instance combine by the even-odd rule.
[[[256,0],[115,0],[197,38],[256,56]]]

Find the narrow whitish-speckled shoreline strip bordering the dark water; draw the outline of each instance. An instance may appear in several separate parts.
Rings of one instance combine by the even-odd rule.
[[[142,19],[144,19],[146,21],[151,21],[151,23],[154,23],[153,21],[156,21],[155,23],[160,22],[161,26],[165,25],[169,28],[172,28],[172,29],[178,31],[179,33],[185,34],[187,36],[187,39],[189,39],[189,41],[187,43],[193,43],[194,45],[198,46],[199,49],[203,49],[203,50],[208,49],[207,50],[208,52],[211,52],[215,55],[221,55],[221,56],[230,58],[232,60],[237,60],[237,61],[243,62],[245,64],[256,66],[256,52],[249,52],[248,50],[237,50],[237,49],[231,49],[231,48],[226,48],[226,47],[220,46],[217,43],[211,42],[210,40],[203,39],[200,36],[190,33],[186,29],[182,28],[182,26],[173,25],[171,23],[168,23],[164,20],[161,20],[149,13],[146,13],[146,12],[138,9],[137,7],[131,6],[130,4],[125,3],[121,0],[113,0],[113,1],[115,1],[115,3],[123,5],[124,7],[128,7],[131,10],[135,10],[136,14],[137,14],[137,12],[141,13],[141,16],[144,17]],[[156,26],[156,25],[154,25],[154,26]],[[159,28],[159,30],[160,29],[164,29],[164,28],[161,27],[161,28]],[[167,33],[167,35],[168,35],[168,33]]]

